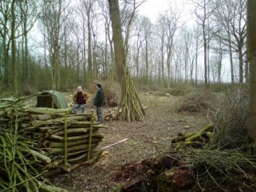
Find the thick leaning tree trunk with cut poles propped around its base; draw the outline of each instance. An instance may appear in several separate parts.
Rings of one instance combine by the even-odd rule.
[[[145,111],[127,68],[127,59],[125,56],[125,47],[122,38],[122,24],[120,19],[120,9],[118,0],[108,0],[109,11],[111,15],[113,42],[115,50],[115,65],[118,71],[118,81],[122,91],[122,119],[127,121],[143,120]]]

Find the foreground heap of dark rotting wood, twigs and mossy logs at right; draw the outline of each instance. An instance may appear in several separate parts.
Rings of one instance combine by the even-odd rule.
[[[204,130],[199,133],[210,132]],[[127,181],[121,191],[256,191],[255,156],[237,150],[208,149],[203,142],[198,145],[200,135],[179,135],[175,138],[179,144],[176,149],[159,151],[160,156],[140,164],[125,165],[119,173],[126,175]],[[185,145],[186,139],[192,140],[190,145]],[[127,176],[129,168],[136,169]]]

